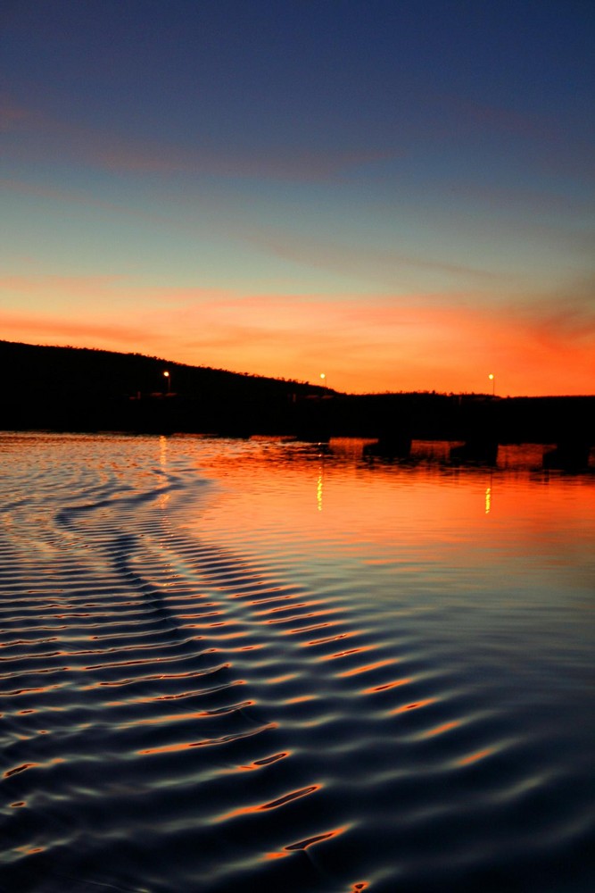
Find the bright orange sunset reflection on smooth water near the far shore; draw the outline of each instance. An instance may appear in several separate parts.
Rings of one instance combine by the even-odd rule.
[[[350,455],[355,446],[359,453],[360,444],[350,445]],[[252,451],[246,455],[245,462],[238,462],[235,457],[233,464],[223,463],[219,471],[230,479],[232,486],[237,484],[236,497],[216,505],[211,510],[210,521],[216,522],[219,530],[236,530],[238,519],[258,518],[262,521],[256,522],[251,531],[256,545],[263,538],[269,541],[270,531],[275,530],[281,537],[286,534],[290,538],[302,538],[303,543],[310,542],[314,549],[326,548],[333,542],[343,554],[349,554],[352,548],[366,563],[404,565],[406,571],[411,561],[428,551],[434,555],[436,565],[445,557],[449,568],[459,563],[471,568],[485,563],[483,547],[493,549],[498,538],[504,537],[512,553],[525,555],[535,544],[542,551],[544,535],[551,533],[558,541],[562,536],[560,531],[573,529],[574,501],[565,503],[557,497],[552,511],[550,494],[544,488],[535,488],[534,481],[528,479],[529,469],[541,467],[540,451],[529,457],[525,455],[526,445],[502,447],[498,469],[525,471],[514,476],[493,472],[492,476],[492,472],[486,475],[476,469],[472,474],[467,474],[464,468],[452,469],[449,449],[446,443],[418,441],[414,449],[417,464],[412,467],[383,463],[362,465],[355,458],[355,464],[337,461],[343,450],[333,440],[324,464],[324,512],[314,509],[315,514],[312,513],[312,487],[316,486],[317,478],[312,476],[310,463],[300,461],[300,449],[279,447],[274,452],[275,461],[271,461],[270,451],[266,455],[254,455]],[[519,449],[521,452],[515,458],[511,450],[518,452]],[[246,472],[254,472],[256,480],[263,465],[267,488],[246,487]],[[278,481],[278,487],[277,477],[283,479]],[[291,499],[287,498],[288,479]],[[519,504],[525,499],[532,500],[532,511],[519,513]],[[353,511],[354,505],[357,512]],[[348,525],[346,517],[350,519]],[[592,517],[591,510],[589,520]],[[507,537],[508,519],[514,519],[514,539]],[[564,538],[570,543],[571,534],[565,534]],[[474,549],[469,549],[471,541],[475,543]]]

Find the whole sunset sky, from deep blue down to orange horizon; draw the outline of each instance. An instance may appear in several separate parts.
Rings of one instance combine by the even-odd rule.
[[[592,0],[4,0],[0,338],[595,393]]]

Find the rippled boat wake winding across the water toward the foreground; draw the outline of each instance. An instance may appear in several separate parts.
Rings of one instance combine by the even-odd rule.
[[[500,680],[189,535],[193,468],[48,462],[3,511],[0,889],[586,890],[580,759]]]

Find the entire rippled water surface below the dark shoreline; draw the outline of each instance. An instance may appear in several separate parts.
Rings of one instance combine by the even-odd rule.
[[[595,475],[0,435],[5,893],[591,893]]]

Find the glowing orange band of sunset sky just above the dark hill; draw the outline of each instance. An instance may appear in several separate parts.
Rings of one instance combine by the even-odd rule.
[[[0,312],[4,338],[29,344],[332,381],[348,393],[485,392],[494,387],[488,363],[500,396],[589,394],[595,380],[592,312],[582,293],[560,305],[542,296],[501,303],[490,293],[243,295],[141,288],[114,277],[12,276],[0,286],[29,307]]]

